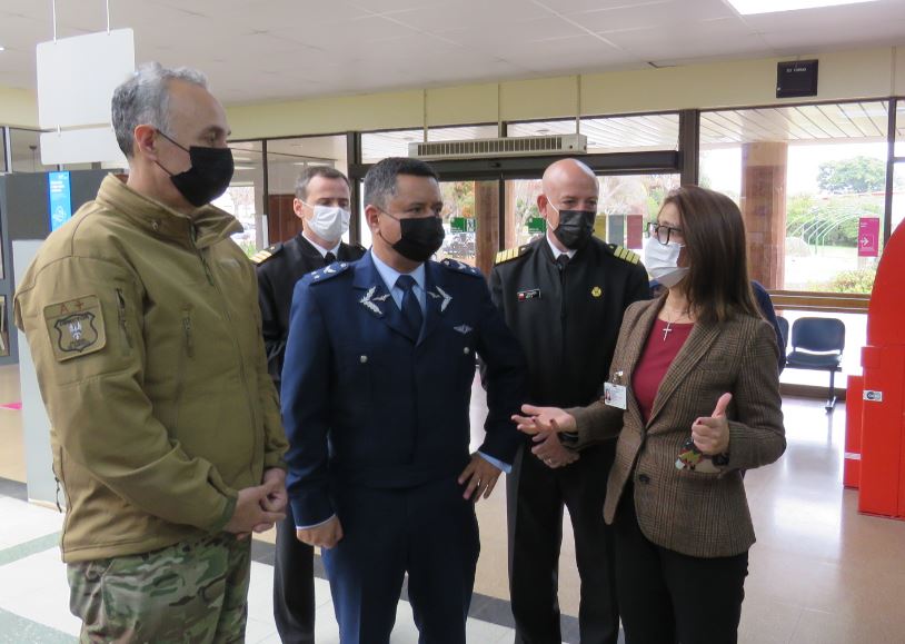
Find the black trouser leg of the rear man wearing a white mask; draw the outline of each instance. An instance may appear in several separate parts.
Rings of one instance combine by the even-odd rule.
[[[292,507],[277,526],[274,618],[284,644],[315,642],[315,548],[296,538]]]

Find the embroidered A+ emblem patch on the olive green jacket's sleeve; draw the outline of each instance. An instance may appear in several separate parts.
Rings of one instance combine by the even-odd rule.
[[[107,345],[103,313],[96,295],[46,306],[44,324],[59,363],[93,354]]]

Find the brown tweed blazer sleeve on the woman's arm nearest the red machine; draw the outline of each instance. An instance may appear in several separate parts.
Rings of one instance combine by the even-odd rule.
[[[786,449],[774,336],[769,324],[759,320],[745,348],[729,408],[727,468],[768,465]]]

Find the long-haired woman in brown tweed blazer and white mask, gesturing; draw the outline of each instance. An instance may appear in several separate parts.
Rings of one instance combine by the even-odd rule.
[[[650,231],[648,247],[666,250],[648,248],[646,264],[669,288],[626,310],[608,402],[525,405],[514,420],[579,450],[618,436],[603,511],[628,644],[736,642],[755,541],[742,472],[786,446],[776,334],[754,303],[730,199],[683,187]]]

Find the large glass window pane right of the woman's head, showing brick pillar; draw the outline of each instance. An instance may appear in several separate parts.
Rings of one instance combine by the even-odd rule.
[[[859,248],[859,230],[883,219],[886,118],[885,101],[702,115],[700,185],[742,208],[753,278],[869,291],[878,257]]]

